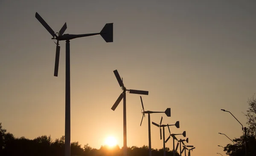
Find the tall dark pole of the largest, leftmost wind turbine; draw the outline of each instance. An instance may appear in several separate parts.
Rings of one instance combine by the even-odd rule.
[[[70,150],[70,40],[66,40],[65,156]]]

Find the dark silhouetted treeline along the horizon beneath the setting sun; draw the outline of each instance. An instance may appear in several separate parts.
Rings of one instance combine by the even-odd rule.
[[[12,133],[7,133],[0,123],[0,156],[64,156],[64,140],[62,136],[52,141],[51,136],[38,136],[35,139],[25,137],[17,138]],[[127,149],[128,156],[148,156],[148,146],[132,146]],[[82,145],[79,142],[71,143],[71,156],[122,156],[119,146],[101,146],[100,149]],[[152,149],[152,156],[163,156],[162,149]],[[173,156],[167,147],[166,156]],[[180,156],[177,152],[175,156]]]

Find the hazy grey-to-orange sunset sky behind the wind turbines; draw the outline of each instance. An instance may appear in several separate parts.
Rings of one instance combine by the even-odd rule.
[[[143,95],[151,121],[186,130],[192,155],[225,154],[221,147],[242,134],[247,99],[255,93],[255,1],[240,0],[1,0],[0,122],[15,136],[34,139],[64,135],[65,42],[58,77],[53,76],[55,43],[35,12],[69,34],[101,31],[114,23],[113,43],[100,36],[70,40],[71,141],[99,148],[114,136],[122,147],[122,92],[117,69],[128,89]],[[64,33],[64,34],[65,34]],[[147,116],[140,127],[140,96],[127,94],[127,144],[148,145]],[[166,133],[168,136],[168,133]],[[183,137],[178,136],[178,139]],[[151,125],[152,148],[162,148]],[[166,143],[172,149],[172,140]]]

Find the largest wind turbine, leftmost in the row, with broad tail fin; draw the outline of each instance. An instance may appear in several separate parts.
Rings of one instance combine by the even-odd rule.
[[[106,42],[113,42],[113,23],[107,23],[102,31],[93,34],[63,34],[67,29],[67,24],[62,26],[59,32],[54,32],[44,19],[36,12],[35,18],[52,35],[52,40],[57,40],[54,76],[58,76],[58,65],[60,57],[59,41],[66,40],[66,92],[65,92],[65,156],[70,156],[70,40],[78,37],[101,35]],[[58,35],[57,35],[58,34]]]

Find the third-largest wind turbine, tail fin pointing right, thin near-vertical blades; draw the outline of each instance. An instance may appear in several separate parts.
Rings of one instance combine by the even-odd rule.
[[[142,119],[140,122],[140,126],[142,124],[143,121],[143,117],[145,117],[145,113],[148,114],[148,155],[152,156],[152,151],[151,151],[151,128],[150,128],[150,114],[151,113],[165,113],[166,116],[171,116],[171,108],[167,108],[166,111],[164,112],[157,112],[157,111],[145,111],[144,110],[144,106],[143,106],[143,101],[142,101],[142,97],[140,96],[140,101],[141,101],[141,105],[142,105]],[[163,117],[161,118],[161,122],[162,122]],[[152,122],[153,123],[153,122]],[[176,122],[177,126],[179,125],[179,122]],[[161,124],[160,124],[161,125]],[[162,137],[162,136],[161,136]]]

